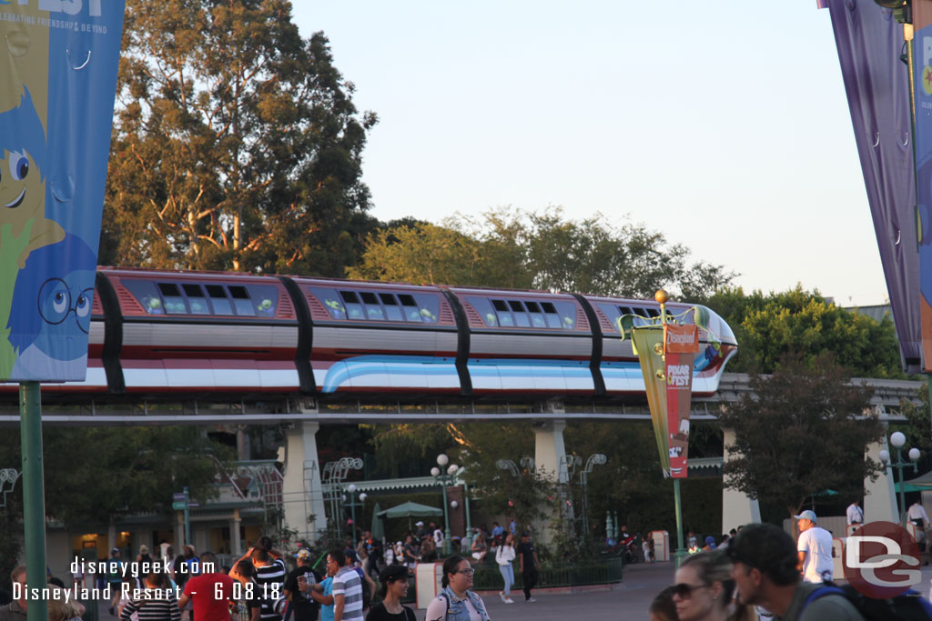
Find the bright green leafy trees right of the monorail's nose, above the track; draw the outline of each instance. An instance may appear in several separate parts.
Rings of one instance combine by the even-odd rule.
[[[722,288],[706,300],[732,327],[738,357],[731,371],[773,372],[788,352],[806,363],[830,352],[857,377],[902,377],[897,333],[889,317],[850,312],[827,302],[817,290],[796,289],[749,295]]]

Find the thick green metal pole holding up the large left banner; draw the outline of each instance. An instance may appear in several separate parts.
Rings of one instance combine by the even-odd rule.
[[[26,585],[44,588],[46,575],[46,497],[42,474],[42,389],[38,382],[20,385],[22,440],[22,522],[26,538]],[[28,598],[27,598],[28,599]],[[26,618],[48,621],[48,601],[29,600]]]

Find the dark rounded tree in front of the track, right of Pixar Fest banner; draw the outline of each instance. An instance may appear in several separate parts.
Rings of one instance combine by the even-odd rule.
[[[722,468],[726,486],[765,498],[797,515],[809,496],[827,489],[861,494],[880,465],[865,459],[883,427],[870,409],[871,391],[852,385],[829,356],[786,356],[769,377],[753,375],[752,395],[720,414],[734,430],[737,456]]]

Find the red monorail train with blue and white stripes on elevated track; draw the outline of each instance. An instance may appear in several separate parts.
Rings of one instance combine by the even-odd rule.
[[[688,304],[667,304],[678,315]],[[92,398],[642,398],[619,317],[654,301],[312,277],[99,268],[84,382]],[[685,320],[692,322],[692,314]],[[737,344],[709,311],[693,393]],[[15,385],[3,385],[5,390]]]

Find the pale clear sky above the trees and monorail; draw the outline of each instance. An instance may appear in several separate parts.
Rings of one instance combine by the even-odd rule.
[[[828,9],[296,0],[353,101],[371,213],[562,206],[643,223],[745,290],[887,290]]]

